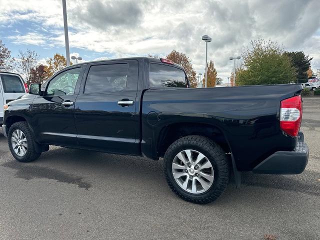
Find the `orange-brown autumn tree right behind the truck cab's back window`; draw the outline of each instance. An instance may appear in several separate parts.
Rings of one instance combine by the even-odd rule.
[[[186,72],[191,87],[197,86],[196,72],[192,67],[191,59],[185,53],[178,52],[177,50],[173,49],[169,54],[166,55],[165,58],[181,65]]]

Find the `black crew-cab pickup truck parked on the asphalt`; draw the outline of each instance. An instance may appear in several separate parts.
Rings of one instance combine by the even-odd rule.
[[[241,171],[301,173],[301,84],[190,88],[181,66],[135,57],[66,67],[4,105],[3,133],[21,162],[49,145],[164,159],[171,189],[210,202]],[[88,159],[90,160],[90,159]]]

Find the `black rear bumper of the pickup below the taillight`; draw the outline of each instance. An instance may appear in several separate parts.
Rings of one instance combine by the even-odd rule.
[[[303,139],[302,139],[303,140]],[[299,174],[309,157],[308,146],[305,142],[297,141],[293,151],[276,151],[252,170],[254,173],[268,174]]]

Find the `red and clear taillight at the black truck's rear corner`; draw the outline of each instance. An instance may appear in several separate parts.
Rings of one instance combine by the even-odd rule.
[[[297,136],[302,118],[301,95],[284,99],[280,103],[280,128],[291,136]]]

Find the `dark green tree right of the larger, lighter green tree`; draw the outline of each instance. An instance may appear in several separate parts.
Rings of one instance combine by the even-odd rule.
[[[296,68],[296,83],[304,83],[308,81],[307,70],[311,66],[312,57],[305,55],[303,51],[285,51],[291,61],[292,65]]]

